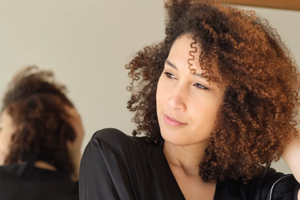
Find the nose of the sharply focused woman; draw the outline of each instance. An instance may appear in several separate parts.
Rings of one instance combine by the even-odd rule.
[[[173,88],[170,94],[171,96],[167,101],[168,105],[174,110],[185,111],[187,94],[184,88],[178,84]]]

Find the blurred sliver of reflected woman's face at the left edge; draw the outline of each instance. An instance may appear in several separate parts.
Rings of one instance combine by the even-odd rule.
[[[0,116],[0,165],[4,164],[5,158],[9,154],[9,146],[11,137],[16,131],[16,126],[13,124],[13,119],[4,110]]]

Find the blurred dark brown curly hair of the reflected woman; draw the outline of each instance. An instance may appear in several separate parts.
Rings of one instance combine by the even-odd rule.
[[[1,113],[7,110],[21,128],[13,133],[5,164],[35,155],[67,175],[73,173],[66,142],[75,139],[75,132],[62,119],[67,116],[63,106],[73,107],[66,92],[64,85],[54,82],[52,71],[29,66],[16,74],[4,95]]]

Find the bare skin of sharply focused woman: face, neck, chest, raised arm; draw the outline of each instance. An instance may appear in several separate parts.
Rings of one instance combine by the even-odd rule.
[[[184,35],[174,42],[170,50],[158,81],[157,115],[161,135],[165,139],[164,154],[185,199],[213,199],[216,180],[204,182],[199,176],[199,163],[205,157],[205,148],[215,128],[226,86],[210,85],[205,79],[190,73],[187,60],[191,58],[192,42]],[[196,73],[201,74],[197,61],[190,63]],[[214,75],[218,76],[216,72]],[[170,118],[182,124],[174,124]],[[297,161],[300,161],[299,151],[299,139],[292,139],[283,154],[298,181],[300,175],[295,169]]]

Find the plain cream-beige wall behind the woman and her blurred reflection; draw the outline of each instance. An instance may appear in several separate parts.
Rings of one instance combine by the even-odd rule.
[[[281,30],[299,63],[300,12],[255,10]],[[82,150],[105,127],[131,134],[124,65],[144,45],[163,38],[162,0],[0,1],[0,97],[16,70],[37,64],[67,84],[85,125]],[[285,163],[275,168],[290,172]]]

